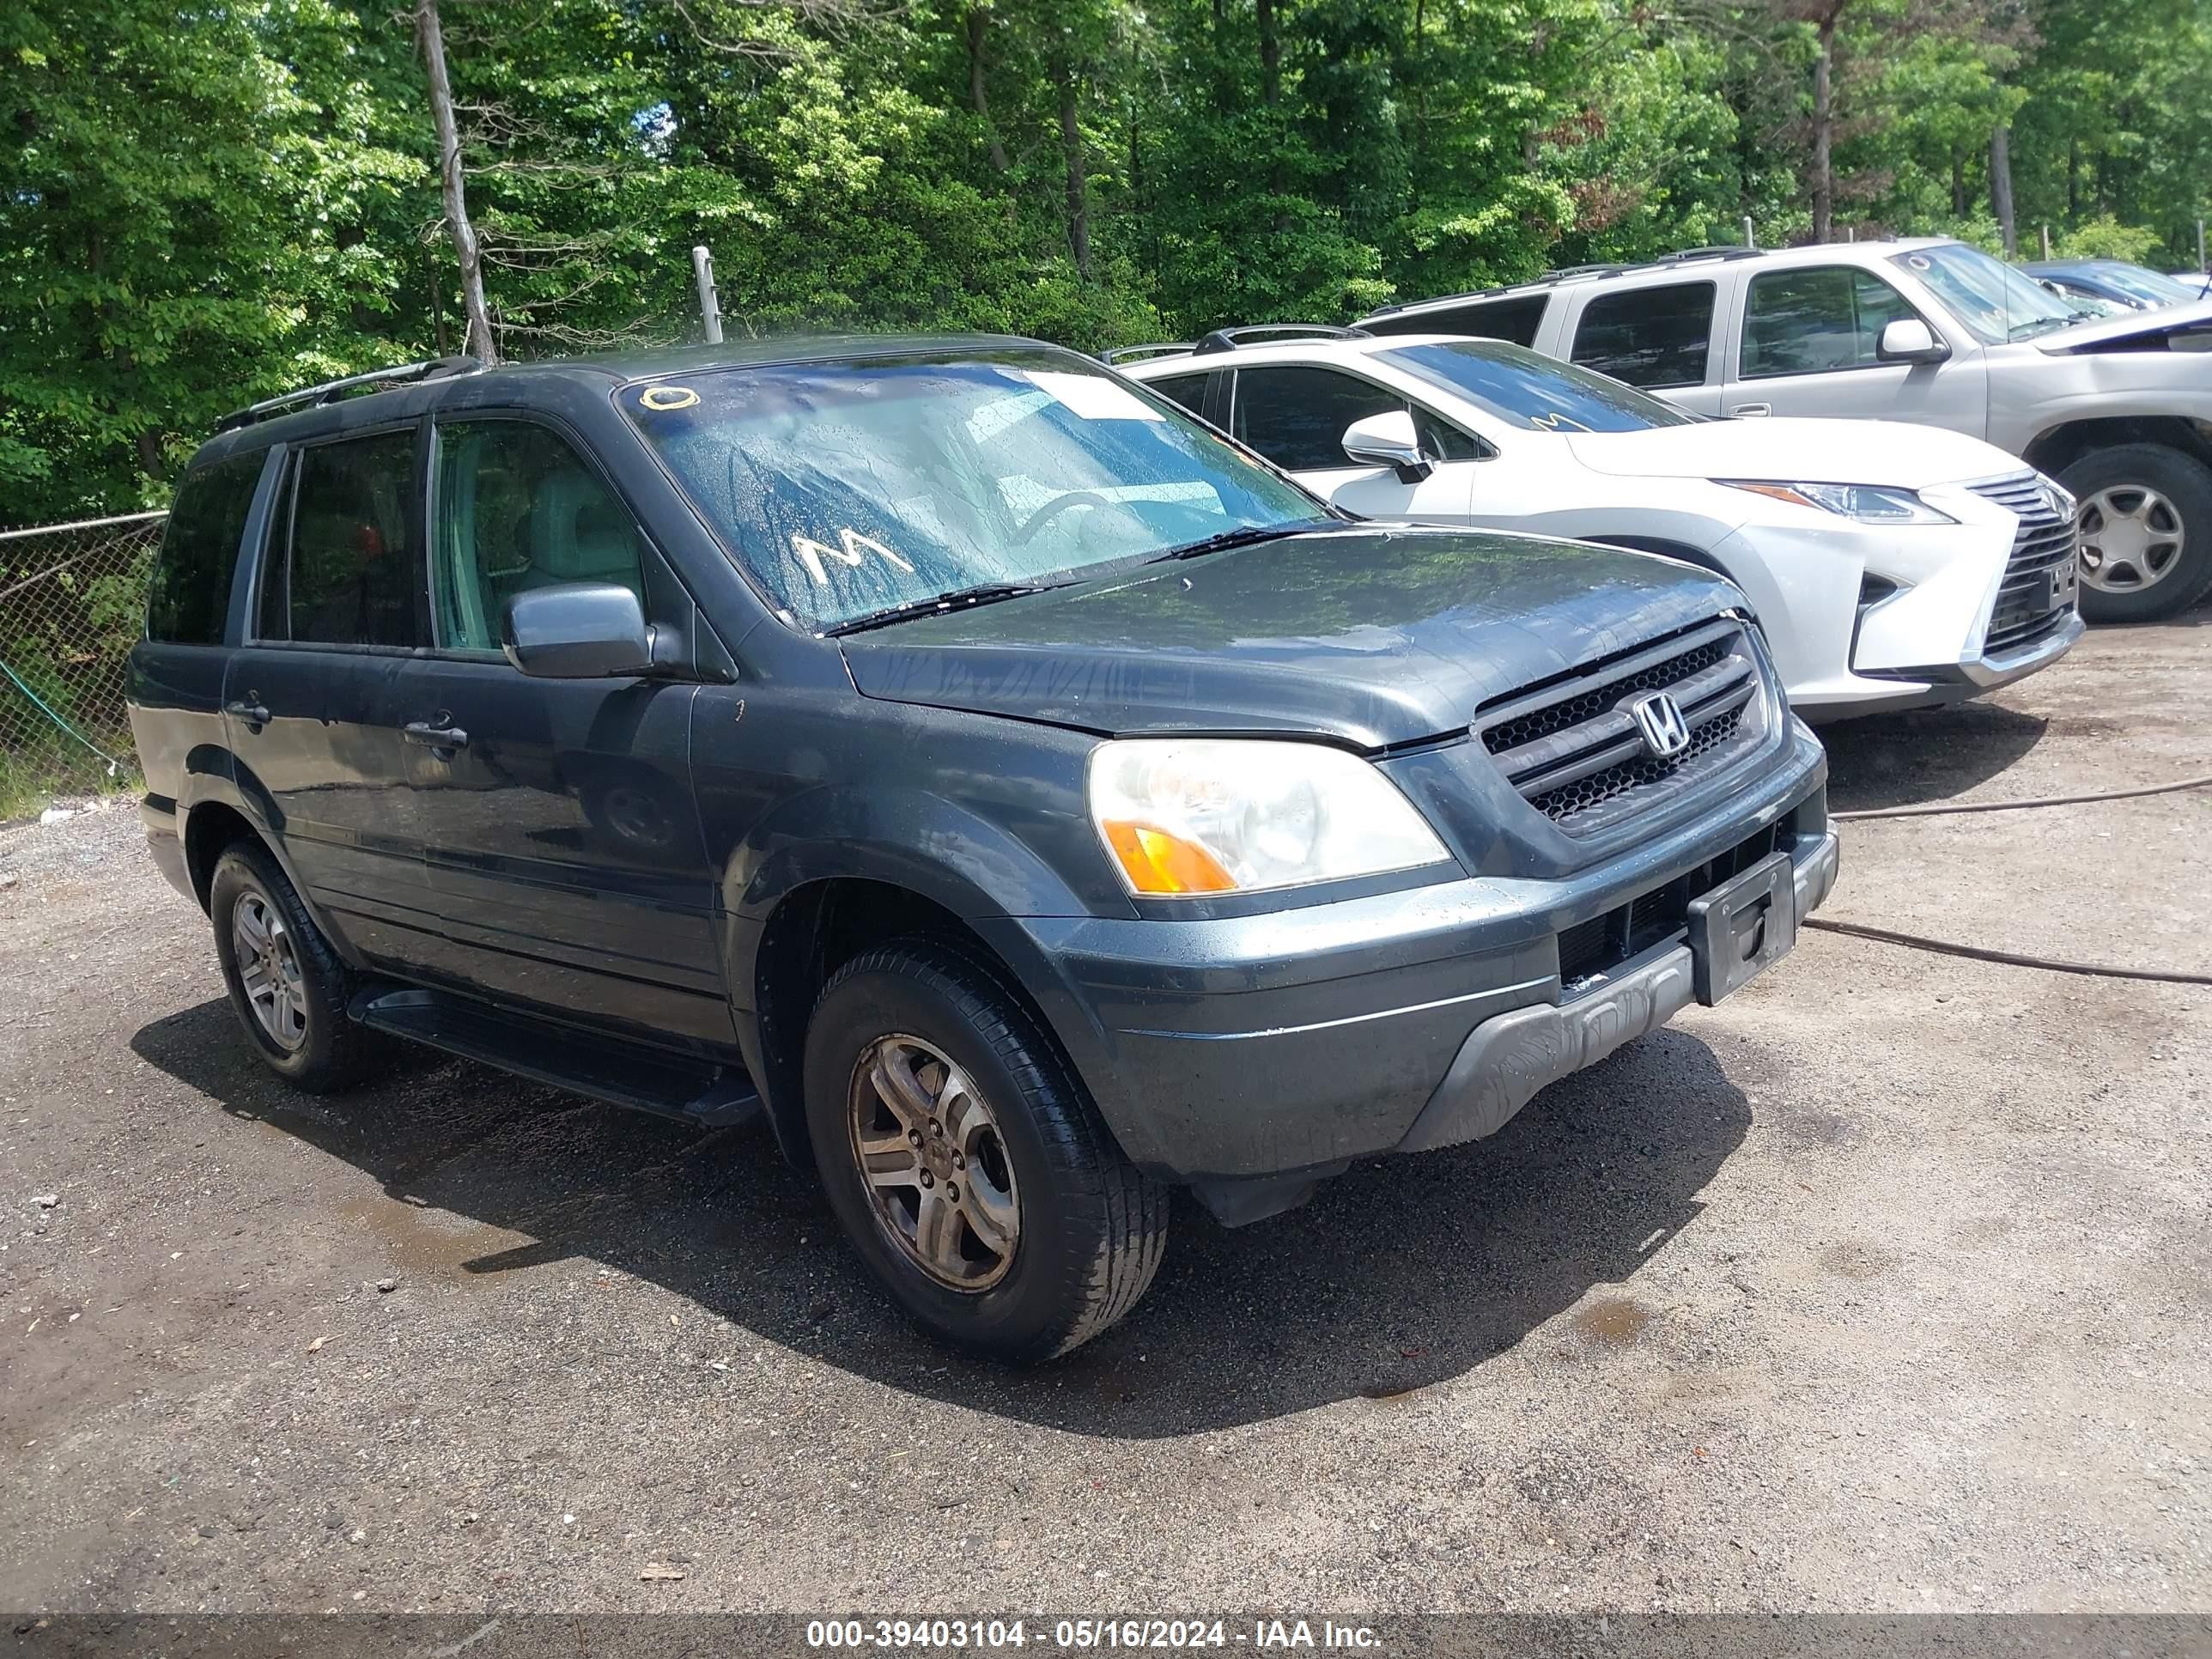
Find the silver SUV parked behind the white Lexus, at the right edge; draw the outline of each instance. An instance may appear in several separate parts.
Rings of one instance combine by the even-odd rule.
[[[2212,591],[2212,301],[2090,321],[1978,248],[1922,239],[1697,248],[1360,327],[1515,341],[1708,416],[1951,427],[2079,498],[2090,619],[2168,617]]]

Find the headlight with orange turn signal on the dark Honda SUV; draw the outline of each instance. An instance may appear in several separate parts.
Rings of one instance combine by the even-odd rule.
[[[1099,743],[1088,794],[1133,894],[1252,894],[1451,856],[1398,785],[1321,743]]]

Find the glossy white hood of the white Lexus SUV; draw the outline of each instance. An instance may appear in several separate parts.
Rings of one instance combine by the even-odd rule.
[[[1902,420],[1699,420],[1648,431],[1577,431],[1566,442],[1590,471],[1621,478],[1929,489],[2020,471],[2020,462],[1995,445]]]

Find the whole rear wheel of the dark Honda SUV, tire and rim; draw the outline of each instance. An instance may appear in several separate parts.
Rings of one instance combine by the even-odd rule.
[[[345,1018],[352,975],[259,841],[215,863],[208,918],[230,1006],[270,1071],[310,1095],[367,1075],[378,1044]]]

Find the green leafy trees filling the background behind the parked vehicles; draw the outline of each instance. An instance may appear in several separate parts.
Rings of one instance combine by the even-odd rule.
[[[947,327],[1079,347],[1812,228],[2194,254],[2203,0],[442,0],[511,356]],[[166,495],[217,414],[458,347],[389,0],[0,11],[0,522]]]

